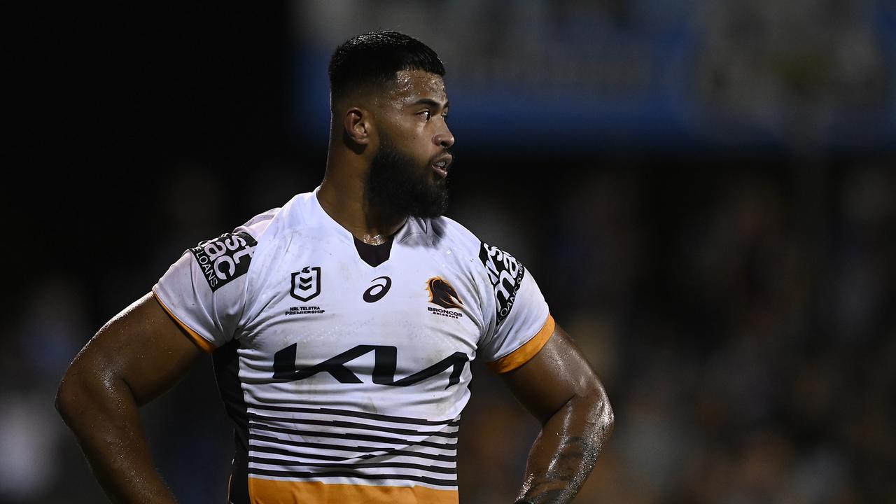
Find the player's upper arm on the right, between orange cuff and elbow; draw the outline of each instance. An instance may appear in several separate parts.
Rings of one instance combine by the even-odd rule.
[[[594,370],[559,325],[529,361],[503,375],[513,395],[542,423],[576,395],[602,393]]]

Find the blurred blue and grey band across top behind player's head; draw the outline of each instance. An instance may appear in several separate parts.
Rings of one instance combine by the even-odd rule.
[[[465,105],[454,118],[478,146],[529,134],[544,148],[572,137],[680,149],[673,140],[684,135],[725,146],[863,149],[896,134],[889,0],[293,5],[294,38],[322,61],[372,28],[426,39],[447,63],[452,100]],[[297,97],[301,122],[325,121],[323,74],[299,79],[309,83]]]

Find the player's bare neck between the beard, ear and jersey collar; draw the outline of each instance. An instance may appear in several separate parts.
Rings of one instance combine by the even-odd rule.
[[[340,170],[328,162],[317,200],[323,211],[355,238],[369,245],[382,245],[401,229],[408,216],[383,212],[367,204],[364,178],[351,176],[362,172]]]

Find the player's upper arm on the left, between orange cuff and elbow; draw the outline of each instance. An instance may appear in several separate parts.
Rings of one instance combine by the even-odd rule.
[[[72,362],[65,380],[121,381],[138,405],[172,387],[202,351],[151,293],[113,317]]]

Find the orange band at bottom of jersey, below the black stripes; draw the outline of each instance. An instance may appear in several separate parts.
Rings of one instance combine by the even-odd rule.
[[[249,478],[252,504],[458,504],[456,490]]]

